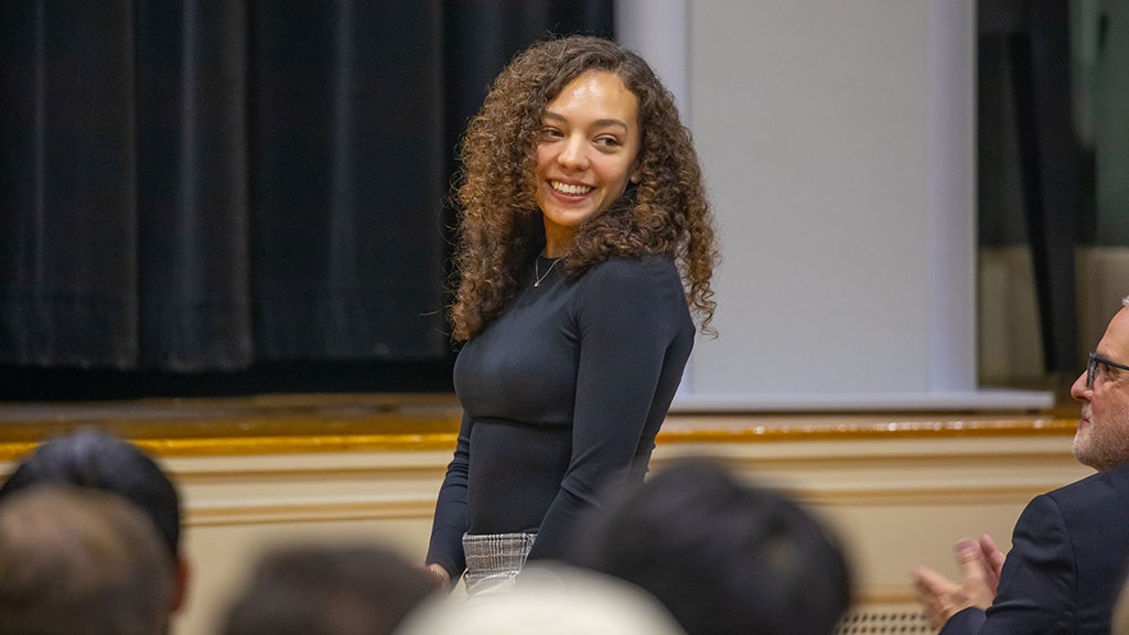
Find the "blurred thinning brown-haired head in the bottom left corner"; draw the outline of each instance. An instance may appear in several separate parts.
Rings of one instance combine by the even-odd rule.
[[[165,633],[172,566],[152,523],[117,496],[15,494],[0,505],[0,633]]]

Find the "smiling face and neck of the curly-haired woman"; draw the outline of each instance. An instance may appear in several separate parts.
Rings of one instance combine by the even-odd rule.
[[[562,255],[577,227],[637,181],[640,137],[639,99],[613,72],[584,72],[549,102],[535,173],[546,255]]]

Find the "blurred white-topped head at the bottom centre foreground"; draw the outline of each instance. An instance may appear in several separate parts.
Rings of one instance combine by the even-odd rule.
[[[685,635],[654,598],[604,575],[541,564],[505,593],[438,598],[396,635]]]

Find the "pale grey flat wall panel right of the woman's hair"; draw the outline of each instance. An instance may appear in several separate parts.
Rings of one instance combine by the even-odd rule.
[[[974,3],[686,5],[725,256],[692,392],[974,393]]]

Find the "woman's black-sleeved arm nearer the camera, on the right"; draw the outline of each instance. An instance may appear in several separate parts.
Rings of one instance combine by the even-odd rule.
[[[654,435],[666,415],[690,354],[693,323],[677,275],[664,264],[610,261],[587,273],[593,278],[584,281],[576,310],[580,355],[571,460],[542,521],[533,559],[564,551],[605,484],[623,482],[642,437]]]

